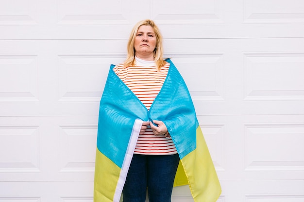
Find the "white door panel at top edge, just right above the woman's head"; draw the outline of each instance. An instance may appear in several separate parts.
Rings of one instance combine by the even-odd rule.
[[[221,0],[152,0],[151,2],[152,18],[159,24],[223,23]]]

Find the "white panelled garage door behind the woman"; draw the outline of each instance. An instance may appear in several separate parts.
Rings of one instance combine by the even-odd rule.
[[[105,78],[145,18],[188,84],[218,202],[304,202],[303,0],[0,0],[0,202],[92,202]]]

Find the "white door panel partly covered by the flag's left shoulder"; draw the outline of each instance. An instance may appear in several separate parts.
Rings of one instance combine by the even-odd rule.
[[[59,101],[99,101],[112,62],[108,55],[60,55]]]

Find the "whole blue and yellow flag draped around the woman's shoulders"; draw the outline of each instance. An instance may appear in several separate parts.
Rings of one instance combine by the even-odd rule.
[[[180,156],[174,186],[189,185],[195,202],[216,202],[220,182],[184,79],[168,59],[168,76],[150,110],[111,65],[100,102],[94,202],[119,202],[143,121],[166,124]]]

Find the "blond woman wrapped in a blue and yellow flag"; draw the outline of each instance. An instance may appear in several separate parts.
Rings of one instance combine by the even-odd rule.
[[[111,65],[97,148],[95,202],[118,202],[121,192],[123,202],[145,202],[147,190],[150,202],[170,202],[173,185],[185,184],[197,202],[220,196],[190,94],[174,64],[163,60],[152,20],[135,25],[125,62]]]

